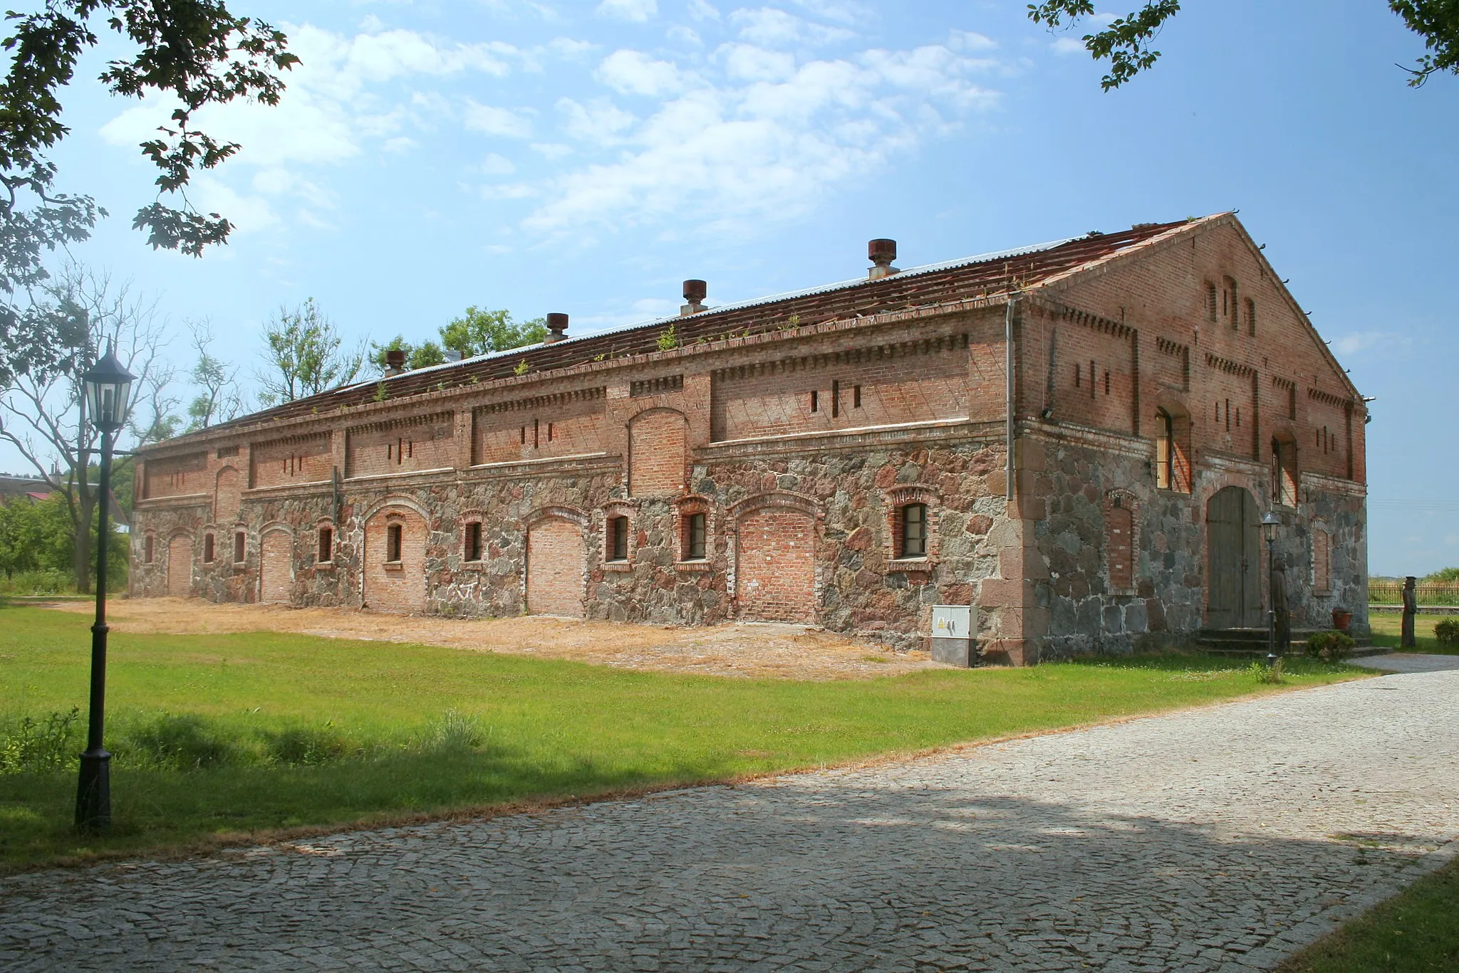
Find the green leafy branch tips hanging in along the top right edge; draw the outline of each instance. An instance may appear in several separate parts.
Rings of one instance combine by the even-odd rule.
[[[1434,71],[1459,74],[1459,0],[1388,0],[1388,9],[1404,19],[1409,31],[1424,38],[1431,51],[1406,70],[1409,86],[1418,88]],[[1134,13],[1113,20],[1103,31],[1084,35],[1084,48],[1096,61],[1109,60],[1109,74],[1100,88],[1119,88],[1135,74],[1154,66],[1160,51],[1150,45],[1160,28],[1180,12],[1180,0],[1147,0]],[[1029,19],[1050,29],[1072,26],[1094,13],[1093,0],[1043,0],[1029,4]]]

